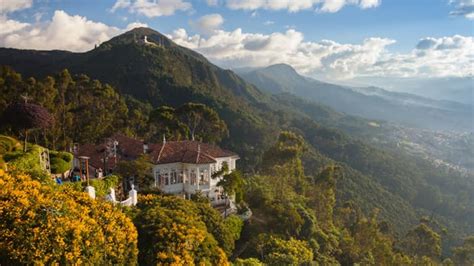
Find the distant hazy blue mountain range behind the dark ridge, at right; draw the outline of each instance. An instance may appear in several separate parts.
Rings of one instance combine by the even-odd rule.
[[[472,106],[467,104],[325,83],[301,76],[284,64],[239,74],[269,93],[291,93],[351,115],[436,130],[474,130]]]

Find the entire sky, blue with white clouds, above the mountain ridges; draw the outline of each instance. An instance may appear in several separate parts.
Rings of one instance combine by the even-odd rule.
[[[474,68],[474,0],[0,0],[0,47],[84,52],[137,26],[224,68],[339,83]]]

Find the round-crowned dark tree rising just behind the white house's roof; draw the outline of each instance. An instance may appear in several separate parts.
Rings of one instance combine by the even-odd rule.
[[[186,126],[191,139],[218,142],[228,136],[227,125],[216,111],[201,103],[186,103],[176,109],[179,121]]]

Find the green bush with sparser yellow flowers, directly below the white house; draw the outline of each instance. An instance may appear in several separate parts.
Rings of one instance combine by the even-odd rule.
[[[174,196],[138,199],[135,225],[139,262],[165,265],[229,265],[193,202]]]

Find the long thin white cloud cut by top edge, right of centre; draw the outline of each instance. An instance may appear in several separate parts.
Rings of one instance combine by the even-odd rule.
[[[381,0],[227,0],[230,9],[243,10],[288,10],[298,12],[315,9],[320,12],[337,12],[346,5],[357,5],[362,9],[380,5]]]

